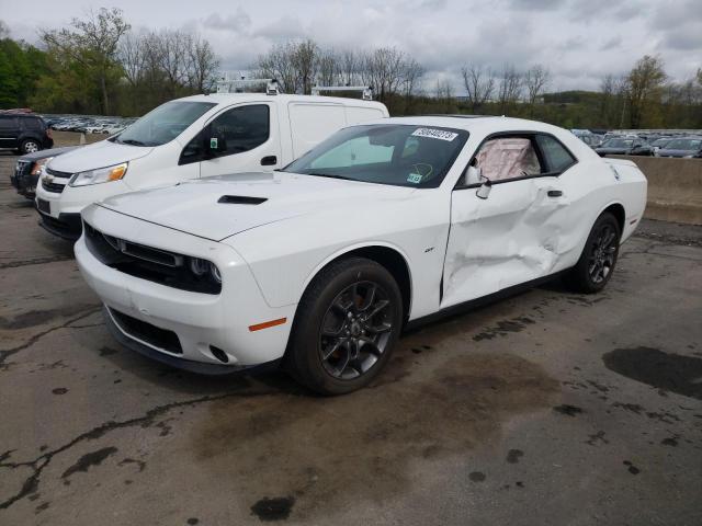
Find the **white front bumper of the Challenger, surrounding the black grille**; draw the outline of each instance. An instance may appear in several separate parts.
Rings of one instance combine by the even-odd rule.
[[[269,307],[249,266],[234,249],[98,206],[90,207],[86,216],[88,222],[110,236],[188,255],[207,254],[222,272],[223,288],[218,295],[181,290],[104,265],[90,252],[84,237],[80,238],[75,245],[76,261],[88,285],[109,309],[107,315],[123,315],[146,324],[147,330],[152,328],[151,332],[157,334],[155,339],[140,338],[139,331],[121,324],[121,319],[112,316],[121,333],[118,340],[126,338],[139,346],[141,354],[199,373],[211,368],[193,368],[192,363],[235,371],[283,356],[295,306]],[[168,247],[163,245],[165,239]],[[281,318],[287,322],[261,331],[249,329]],[[178,348],[160,344],[159,333],[173,333]]]

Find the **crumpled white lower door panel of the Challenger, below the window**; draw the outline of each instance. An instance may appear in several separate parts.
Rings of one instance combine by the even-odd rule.
[[[553,273],[570,244],[569,205],[556,176],[495,184],[487,199],[454,191],[441,307]]]

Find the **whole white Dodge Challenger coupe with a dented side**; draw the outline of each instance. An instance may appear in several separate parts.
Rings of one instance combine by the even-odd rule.
[[[126,346],[210,374],[282,363],[339,395],[408,323],[556,275],[601,290],[645,204],[633,162],[562,128],[389,118],[272,174],[94,204],[76,258]]]

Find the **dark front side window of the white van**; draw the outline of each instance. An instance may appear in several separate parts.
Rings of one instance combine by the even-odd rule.
[[[234,107],[215,118],[206,137],[215,157],[241,153],[265,142],[271,132],[269,113],[267,104],[256,104]]]

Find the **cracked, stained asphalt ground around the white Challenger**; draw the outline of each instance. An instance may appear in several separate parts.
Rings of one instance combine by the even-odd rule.
[[[367,389],[114,342],[0,155],[0,524],[702,524],[702,227],[424,327]]]

